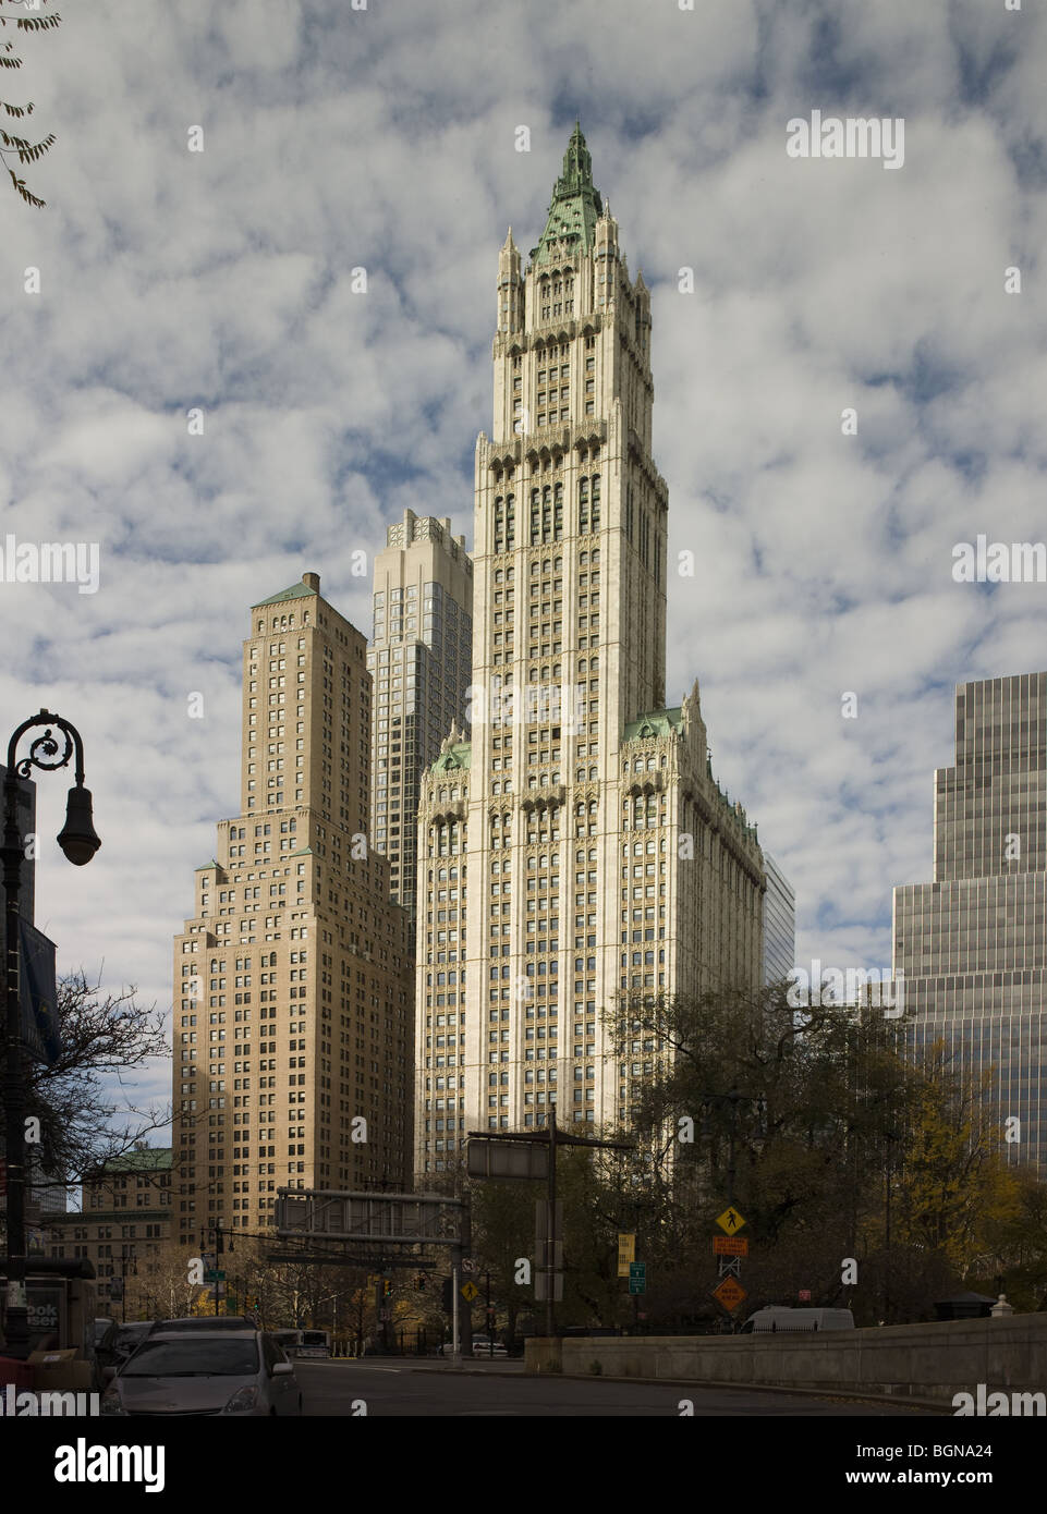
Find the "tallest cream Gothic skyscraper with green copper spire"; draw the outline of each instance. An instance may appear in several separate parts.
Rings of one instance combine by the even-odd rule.
[[[626,1119],[650,1052],[620,993],[761,980],[755,828],[711,775],[697,684],[665,706],[668,489],[650,294],[576,126],[524,269],[498,254],[476,447],[471,730],[418,816],[415,1166],[468,1128]]]

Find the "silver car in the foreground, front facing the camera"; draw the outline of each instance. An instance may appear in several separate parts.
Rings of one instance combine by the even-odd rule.
[[[294,1367],[264,1331],[148,1335],[112,1376],[103,1414],[300,1414]]]

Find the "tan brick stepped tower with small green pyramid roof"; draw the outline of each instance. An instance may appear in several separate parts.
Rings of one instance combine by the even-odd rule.
[[[367,643],[317,574],[252,607],[241,813],[174,940],[176,1225],[264,1231],[283,1185],[400,1187],[408,917],[368,843]]]

